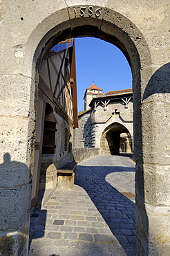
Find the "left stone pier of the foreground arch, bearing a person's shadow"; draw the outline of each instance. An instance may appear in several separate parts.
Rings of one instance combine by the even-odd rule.
[[[1,81],[0,255],[25,256],[35,138],[35,113],[30,109],[35,109],[35,84],[23,75],[3,75]]]

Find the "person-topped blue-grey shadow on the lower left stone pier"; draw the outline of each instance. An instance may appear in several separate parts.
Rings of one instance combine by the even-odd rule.
[[[25,163],[11,161],[8,152],[0,170],[0,255],[14,255],[16,250],[18,255],[26,255],[32,175]]]

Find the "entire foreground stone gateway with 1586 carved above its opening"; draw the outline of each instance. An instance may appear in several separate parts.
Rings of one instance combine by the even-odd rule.
[[[26,167],[20,172],[17,164],[12,165],[4,179],[3,172],[9,168],[3,165],[1,219],[5,221],[0,227],[0,248],[8,246],[8,255],[28,255],[41,61],[63,39],[92,36],[118,46],[133,73],[136,255],[168,255],[169,0],[12,2],[1,1],[1,161],[8,152],[11,163]],[[17,170],[21,179],[17,179]],[[9,199],[12,204],[7,203]],[[28,203],[20,207],[19,201]]]

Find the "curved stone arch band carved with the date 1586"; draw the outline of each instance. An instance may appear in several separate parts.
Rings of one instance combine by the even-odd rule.
[[[141,115],[139,108],[140,98],[138,97],[138,95],[140,95],[141,80],[140,66],[146,66],[151,62],[149,49],[145,39],[138,28],[136,28],[135,25],[129,21],[129,19],[126,19],[120,13],[113,12],[113,10],[110,10],[109,8],[104,9],[101,6],[94,6],[95,12],[93,12],[93,15],[89,15],[88,10],[90,7],[91,6],[86,6],[84,9],[82,9],[82,6],[68,8],[70,22],[68,20],[64,20],[63,22],[59,20],[59,24],[53,27],[51,30],[44,31],[43,24],[46,24],[47,26],[49,21],[48,18],[44,19],[44,21],[41,22],[37,28],[35,28],[28,41],[32,42],[32,37],[35,38],[35,35],[37,36],[37,30],[39,30],[40,27],[41,33],[44,33],[45,35],[38,42],[39,44],[34,53],[32,73],[39,72],[41,60],[43,59],[46,52],[54,44],[57,44],[63,39],[84,36],[92,36],[104,39],[106,42],[115,44],[115,46],[120,48],[120,50],[124,53],[127,60],[129,61],[133,74],[133,98],[135,99],[134,109],[135,113],[138,114],[139,117]],[[64,11],[66,10],[61,10],[63,16]],[[96,15],[97,11],[100,13],[99,16]],[[80,15],[77,15],[77,13]],[[56,22],[58,22],[57,13],[54,13],[51,19],[55,19],[56,24]],[[133,28],[133,30],[130,31],[129,28]],[[138,38],[140,38],[140,42],[138,42]],[[145,48],[145,51],[141,51],[142,47]],[[37,76],[35,76],[35,80],[36,79]],[[139,129],[141,128],[140,118],[136,118],[134,123],[135,125],[138,125]],[[142,140],[139,136],[138,143],[142,143]],[[138,154],[136,156],[138,156]]]

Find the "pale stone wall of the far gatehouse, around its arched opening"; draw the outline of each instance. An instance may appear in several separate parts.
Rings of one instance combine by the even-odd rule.
[[[115,109],[117,112],[115,113]],[[74,129],[73,147],[96,147],[102,152],[102,134],[111,124],[117,122],[126,128],[133,140],[133,102],[125,108],[121,100],[108,104],[106,110],[102,104],[79,116],[79,128]],[[110,154],[106,150],[106,154]]]

